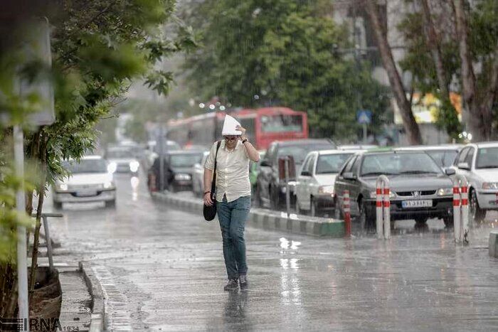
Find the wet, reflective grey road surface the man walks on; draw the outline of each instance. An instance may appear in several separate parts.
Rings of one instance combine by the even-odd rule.
[[[396,223],[388,242],[249,228],[250,289],[227,293],[217,223],[154,202],[137,178],[118,175],[117,186],[115,210],[65,205],[51,221],[57,259],[94,267],[114,330],[498,329],[498,259],[487,254],[498,223],[468,247],[440,221]]]

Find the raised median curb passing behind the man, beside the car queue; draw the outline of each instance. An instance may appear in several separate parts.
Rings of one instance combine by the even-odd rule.
[[[203,203],[198,199],[174,196],[171,193],[153,192],[151,195],[152,198],[161,200],[179,210],[198,212],[202,215]],[[287,217],[286,213],[260,208],[251,208],[248,225],[265,230],[281,230],[318,237],[344,237],[346,234],[344,220],[308,217],[292,213],[290,217]]]

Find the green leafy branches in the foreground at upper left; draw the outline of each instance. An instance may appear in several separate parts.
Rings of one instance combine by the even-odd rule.
[[[94,148],[97,122],[109,117],[132,80],[144,80],[159,94],[169,92],[173,77],[157,64],[196,45],[191,28],[174,17],[174,6],[174,0],[61,0],[58,6],[43,7],[46,11],[36,13],[46,16],[51,24],[51,68],[24,60],[20,45],[9,45],[9,52],[0,55],[0,108],[2,119],[7,120],[1,123],[1,139],[9,139],[13,124],[25,127],[26,156],[36,161],[38,170],[46,160],[46,185],[68,175],[61,166],[63,159],[80,159]],[[29,13],[23,15],[28,17]],[[174,26],[167,36],[166,23]],[[19,41],[26,31],[13,29]],[[41,109],[43,101],[36,94],[19,97],[15,82],[17,77],[37,75],[46,75],[53,83],[56,121],[30,131],[26,116]],[[11,243],[4,240],[12,240],[11,202],[16,188],[15,179],[9,176],[13,168],[6,149],[9,145],[2,144],[0,260],[9,259],[15,249],[6,246],[7,251],[2,250],[4,243]],[[32,198],[34,188],[26,187],[28,198]]]

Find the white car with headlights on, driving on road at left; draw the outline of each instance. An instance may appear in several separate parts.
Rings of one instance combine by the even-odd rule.
[[[54,208],[63,203],[104,201],[106,206],[116,205],[116,186],[113,180],[115,165],[101,156],[84,156],[80,162],[71,159],[63,162],[70,172],[65,181],[53,186]]]

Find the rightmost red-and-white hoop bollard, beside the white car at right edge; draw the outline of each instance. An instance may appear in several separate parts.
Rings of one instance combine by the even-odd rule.
[[[455,242],[468,243],[469,193],[467,178],[461,174],[453,178],[453,230]]]

